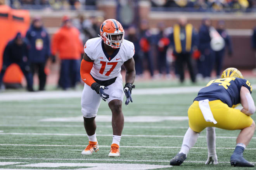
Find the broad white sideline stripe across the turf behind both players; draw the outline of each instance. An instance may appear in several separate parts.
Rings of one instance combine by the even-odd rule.
[[[253,89],[256,85],[253,84]],[[177,93],[195,93],[204,86],[188,87],[169,87],[169,88],[140,88],[134,89],[133,95],[160,95],[160,94],[177,94]],[[46,92],[10,92],[1,93],[0,101],[13,100],[42,100],[42,99],[62,99],[62,98],[79,98],[81,91],[46,91]]]

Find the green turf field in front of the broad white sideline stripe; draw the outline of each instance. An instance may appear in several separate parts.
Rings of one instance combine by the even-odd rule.
[[[149,169],[154,169],[153,165],[168,166],[170,159],[180,150],[183,135],[188,128],[187,109],[195,96],[196,93],[133,95],[133,103],[123,105],[125,127],[119,158],[108,157],[112,142],[112,127],[108,121],[111,119],[111,111],[104,101],[99,108],[101,121],[97,122],[96,131],[100,149],[90,156],[81,155],[88,138],[83,128],[80,98],[1,101],[0,169],[95,170],[104,169],[104,166],[105,169],[113,169],[107,168],[104,163],[115,163],[112,167],[120,167],[117,168],[120,170],[123,169],[122,166],[129,167],[124,164],[152,165]],[[253,98],[256,99],[255,92]],[[173,117],[175,120],[166,120],[170,116],[181,117],[178,117],[180,120],[177,117]],[[159,117],[162,119],[158,119]],[[255,115],[252,117],[256,119]],[[255,169],[230,166],[229,160],[238,134],[239,131],[216,129],[218,165],[204,165],[208,156],[204,130],[182,166],[160,169]],[[247,148],[244,157],[250,162],[256,162],[256,135]],[[13,164],[5,165],[6,162]],[[31,163],[47,164],[28,165]],[[88,163],[98,163],[102,167]],[[135,168],[138,165],[131,166]]]

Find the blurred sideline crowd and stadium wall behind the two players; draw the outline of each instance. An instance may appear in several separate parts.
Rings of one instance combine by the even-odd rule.
[[[224,67],[255,77],[254,0],[0,0],[0,89],[81,83],[83,46],[105,19],[135,45],[136,79],[192,83]],[[35,85],[38,85],[38,87]]]

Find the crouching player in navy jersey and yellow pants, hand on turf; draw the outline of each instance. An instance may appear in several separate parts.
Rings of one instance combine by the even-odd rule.
[[[171,160],[170,165],[181,165],[189,150],[195,145],[199,133],[206,128],[208,160],[218,164],[215,146],[215,128],[238,130],[237,146],[230,158],[232,166],[254,167],[243,157],[255,131],[255,122],[250,117],[255,112],[251,97],[252,87],[236,68],[227,68],[221,78],[211,80],[202,88],[188,110],[189,129],[187,130],[180,152]],[[242,104],[242,110],[234,109]]]

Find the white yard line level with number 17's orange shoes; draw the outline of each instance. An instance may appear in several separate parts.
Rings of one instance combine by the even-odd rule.
[[[54,146],[54,147],[84,147],[85,145],[28,145],[28,144],[0,144],[0,146]],[[109,148],[107,145],[100,145],[100,148]],[[180,148],[179,146],[120,146],[120,148]],[[208,149],[206,147],[192,147],[195,149]],[[216,148],[234,150],[235,148]],[[256,148],[246,148],[246,150],[256,150]]]

